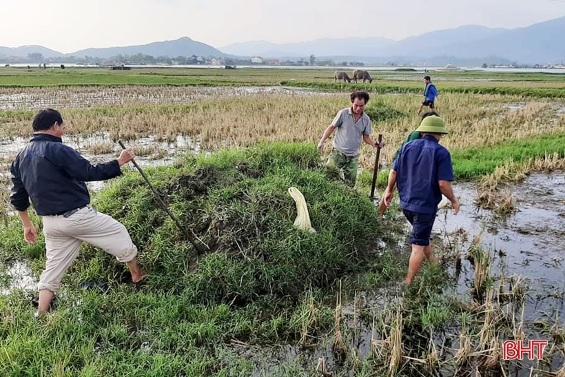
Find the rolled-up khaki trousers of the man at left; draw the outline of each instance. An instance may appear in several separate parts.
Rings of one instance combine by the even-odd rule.
[[[129,262],[137,255],[130,234],[112,216],[84,207],[71,216],[43,216],[43,234],[47,261],[39,278],[39,290],[56,292],[61,279],[72,265],[83,242],[112,254],[120,262]]]

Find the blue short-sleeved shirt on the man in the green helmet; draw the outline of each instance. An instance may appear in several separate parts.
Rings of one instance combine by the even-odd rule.
[[[404,144],[392,165],[400,207],[420,214],[435,214],[442,201],[439,181],[453,181],[451,154],[438,139],[426,135]]]

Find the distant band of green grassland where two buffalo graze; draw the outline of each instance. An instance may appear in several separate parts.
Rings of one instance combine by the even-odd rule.
[[[337,68],[342,70],[342,68]],[[347,70],[345,70],[347,72]],[[0,86],[247,86],[286,85],[330,91],[353,89],[375,93],[422,94],[423,72],[372,71],[373,83],[336,83],[330,69],[256,69],[237,70],[209,68],[135,68],[111,71],[106,68],[68,68],[66,70],[25,70],[0,68]],[[502,72],[433,72],[440,94],[504,94],[526,98],[565,98],[564,74]],[[485,81],[486,80],[486,81]],[[491,85],[491,82],[497,85]]]

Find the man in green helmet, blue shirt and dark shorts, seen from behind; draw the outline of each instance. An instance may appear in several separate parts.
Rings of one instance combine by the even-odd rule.
[[[427,116],[416,130],[422,138],[406,143],[392,165],[385,203],[390,205],[394,185],[398,187],[400,207],[412,225],[410,243],[412,254],[405,283],[412,283],[424,256],[437,263],[430,245],[430,234],[442,194],[451,201],[454,214],[459,212],[459,201],[453,195],[453,167],[451,155],[440,140],[447,130],[439,116]]]

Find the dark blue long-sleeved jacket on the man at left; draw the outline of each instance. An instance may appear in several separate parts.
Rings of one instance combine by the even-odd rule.
[[[10,201],[18,211],[30,207],[40,216],[62,214],[90,203],[85,181],[105,181],[121,175],[117,160],[91,165],[61,138],[34,134],[10,168]]]

